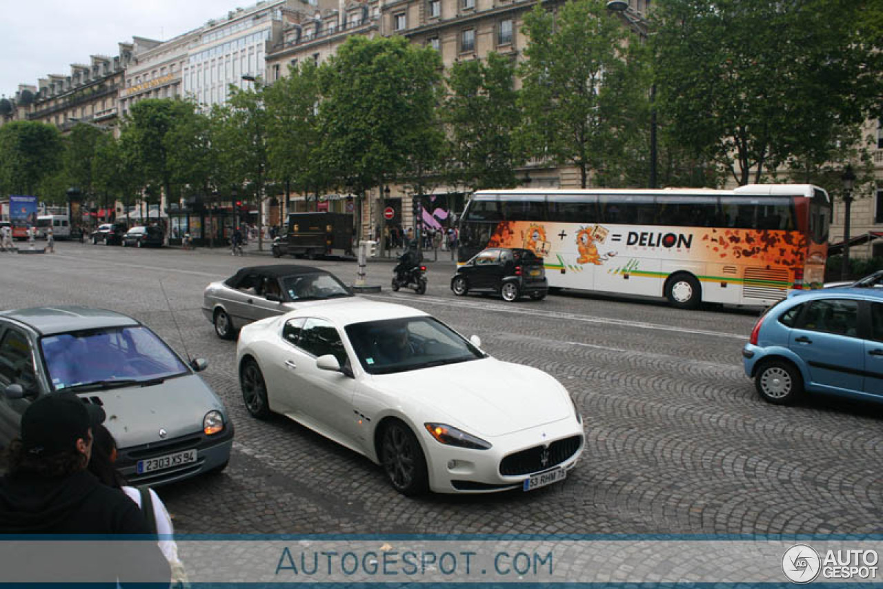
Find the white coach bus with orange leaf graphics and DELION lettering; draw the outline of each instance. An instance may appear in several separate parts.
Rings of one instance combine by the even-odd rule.
[[[831,201],[812,185],[734,190],[482,190],[457,261],[487,247],[540,255],[550,288],[767,306],[824,280]]]

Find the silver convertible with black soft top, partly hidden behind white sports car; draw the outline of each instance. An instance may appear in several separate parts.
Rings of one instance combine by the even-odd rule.
[[[203,292],[202,313],[222,339],[233,339],[239,328],[275,317],[306,304],[353,298],[349,287],[321,268],[298,264],[250,266]]]

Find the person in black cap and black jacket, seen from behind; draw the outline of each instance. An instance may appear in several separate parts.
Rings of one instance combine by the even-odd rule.
[[[21,435],[7,449],[9,470],[0,479],[0,534],[143,534],[144,538],[103,542],[101,549],[79,542],[71,550],[65,548],[67,558],[37,559],[42,563],[39,571],[33,568],[34,555],[28,559],[26,553],[36,549],[34,543],[21,542],[0,558],[8,572],[10,567],[21,568],[21,580],[36,580],[39,573],[49,582],[118,580],[124,585],[138,581],[168,586],[169,564],[138,506],[87,471],[92,427],[104,417],[100,406],[84,404],[72,393],[49,393],[27,407]],[[57,564],[57,576],[46,563]]]

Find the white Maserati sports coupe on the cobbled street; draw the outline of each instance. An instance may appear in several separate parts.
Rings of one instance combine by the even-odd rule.
[[[242,329],[239,383],[254,417],[282,413],[364,454],[404,495],[565,479],[584,445],[567,390],[480,344],[408,306],[311,306]]]

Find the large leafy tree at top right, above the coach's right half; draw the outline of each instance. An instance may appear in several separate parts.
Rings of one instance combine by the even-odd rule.
[[[669,0],[654,12],[660,108],[740,185],[824,162],[879,103],[880,54],[850,0]]]

